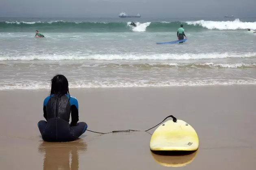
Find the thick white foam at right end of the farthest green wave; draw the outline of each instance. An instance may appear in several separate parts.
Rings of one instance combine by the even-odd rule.
[[[200,25],[204,28],[213,30],[239,30],[239,29],[256,29],[256,22],[242,22],[239,19],[234,21],[187,21],[189,25]]]

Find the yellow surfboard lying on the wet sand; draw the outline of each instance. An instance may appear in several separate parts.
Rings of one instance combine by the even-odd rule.
[[[179,119],[159,125],[150,140],[152,151],[195,151],[198,147],[199,140],[194,128]]]

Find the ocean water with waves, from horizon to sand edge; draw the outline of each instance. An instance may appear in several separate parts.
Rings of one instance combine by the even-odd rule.
[[[136,28],[129,23],[134,21]],[[183,23],[188,40],[177,40]],[[0,90],[256,84],[256,18],[0,18]],[[36,38],[39,30],[45,38]]]

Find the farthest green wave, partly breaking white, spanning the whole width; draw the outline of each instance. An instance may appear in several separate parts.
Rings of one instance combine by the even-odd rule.
[[[170,32],[176,31],[181,21],[135,22],[137,27],[131,28],[129,22],[83,22],[83,21],[2,21],[0,32]],[[256,22],[234,21],[182,21],[186,31],[209,30],[241,30],[256,29]]]

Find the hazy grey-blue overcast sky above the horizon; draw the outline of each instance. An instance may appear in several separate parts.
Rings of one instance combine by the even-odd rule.
[[[256,0],[0,0],[0,17],[256,17]]]

